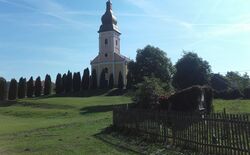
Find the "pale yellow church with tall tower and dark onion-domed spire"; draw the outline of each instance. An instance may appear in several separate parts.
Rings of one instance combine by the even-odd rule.
[[[106,3],[106,12],[102,16],[102,25],[99,33],[99,54],[91,61],[92,71],[97,73],[97,84],[100,85],[101,74],[105,72],[106,82],[109,83],[109,77],[113,74],[114,85],[118,85],[119,74],[123,77],[123,83],[127,83],[127,64],[130,61],[120,53],[120,35],[121,32],[117,25],[117,19],[113,14],[112,3],[110,0]]]

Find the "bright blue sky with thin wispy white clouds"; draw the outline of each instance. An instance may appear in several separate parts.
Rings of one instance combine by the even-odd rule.
[[[98,54],[106,0],[0,0],[0,76],[55,79]],[[173,64],[196,52],[214,73],[250,73],[249,0],[113,0],[121,53],[150,44]]]

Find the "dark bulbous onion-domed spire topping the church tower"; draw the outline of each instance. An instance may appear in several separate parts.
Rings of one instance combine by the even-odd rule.
[[[100,32],[106,32],[106,31],[116,31],[120,33],[118,25],[117,25],[117,19],[113,14],[112,11],[112,3],[110,0],[106,3],[106,12],[102,16],[102,25],[100,26],[99,33]]]

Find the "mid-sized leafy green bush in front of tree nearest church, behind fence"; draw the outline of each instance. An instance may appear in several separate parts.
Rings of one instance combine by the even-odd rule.
[[[138,84],[134,100],[139,108],[152,108],[156,106],[158,97],[162,95],[164,95],[164,89],[161,80],[144,77],[144,81]]]

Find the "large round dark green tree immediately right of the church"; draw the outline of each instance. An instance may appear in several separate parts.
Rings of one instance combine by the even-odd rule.
[[[146,46],[137,50],[136,62],[130,62],[128,69],[135,83],[143,81],[143,77],[156,77],[165,83],[170,83],[174,72],[171,60],[159,48]]]

